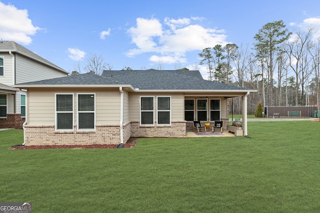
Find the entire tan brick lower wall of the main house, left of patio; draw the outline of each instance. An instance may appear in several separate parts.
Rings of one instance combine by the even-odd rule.
[[[53,125],[25,125],[25,146],[31,145],[88,145],[88,144],[119,144],[120,125],[96,125],[95,130],[55,131]],[[123,143],[130,137],[164,137],[185,138],[185,121],[172,122],[165,126],[140,126],[139,122],[123,125]]]

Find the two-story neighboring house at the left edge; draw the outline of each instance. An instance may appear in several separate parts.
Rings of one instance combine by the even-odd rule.
[[[14,41],[0,41],[0,128],[21,129],[25,120],[26,91],[13,85],[67,74]]]

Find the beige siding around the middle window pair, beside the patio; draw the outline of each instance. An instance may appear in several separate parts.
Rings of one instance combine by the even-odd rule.
[[[171,122],[183,120],[183,104],[184,99],[182,93],[130,93],[130,120],[140,120],[140,96],[154,97],[154,121],[156,121],[156,97],[170,96],[171,97]]]

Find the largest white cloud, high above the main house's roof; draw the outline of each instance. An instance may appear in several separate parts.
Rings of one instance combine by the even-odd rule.
[[[137,18],[136,26],[128,29],[131,42],[136,48],[126,52],[128,57],[142,53],[154,53],[149,58],[165,63],[187,62],[185,54],[189,51],[202,50],[216,44],[226,44],[223,29],[204,28],[193,23],[203,17],[172,19],[165,17],[163,23],[156,18]],[[158,55],[156,55],[158,54]]]

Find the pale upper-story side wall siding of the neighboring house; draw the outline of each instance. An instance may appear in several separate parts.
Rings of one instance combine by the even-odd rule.
[[[61,71],[18,54],[15,54],[15,61],[16,84],[66,76]]]

